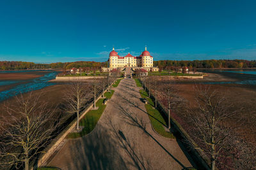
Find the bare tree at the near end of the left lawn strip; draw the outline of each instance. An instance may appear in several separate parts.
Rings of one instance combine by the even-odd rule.
[[[79,112],[83,109],[84,104],[88,101],[88,89],[84,81],[76,80],[72,81],[67,86],[63,96],[67,102],[67,112],[75,113],[77,115],[77,131],[79,130]]]

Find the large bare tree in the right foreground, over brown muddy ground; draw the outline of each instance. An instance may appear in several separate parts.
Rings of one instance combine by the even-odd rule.
[[[215,169],[221,150],[228,146],[228,139],[234,132],[234,127],[227,124],[228,119],[237,111],[232,111],[225,97],[210,87],[196,87],[196,92],[197,107],[189,109],[187,118],[193,125],[191,134],[200,149],[211,157],[211,169]]]

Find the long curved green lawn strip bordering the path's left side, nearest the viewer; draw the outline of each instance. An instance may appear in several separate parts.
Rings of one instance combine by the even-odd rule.
[[[111,90],[111,92],[105,92],[104,96],[110,99],[114,92],[114,90]],[[79,125],[84,126],[83,130],[81,132],[71,132],[67,135],[67,138],[79,138],[92,132],[106,108],[106,105],[103,104],[103,101],[104,99],[99,99],[99,101],[96,103],[96,106],[99,108],[97,110],[88,111],[88,113],[86,113],[86,115],[80,120]]]

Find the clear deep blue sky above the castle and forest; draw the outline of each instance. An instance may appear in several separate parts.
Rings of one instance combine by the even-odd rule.
[[[256,1],[0,1],[0,60],[256,59]]]

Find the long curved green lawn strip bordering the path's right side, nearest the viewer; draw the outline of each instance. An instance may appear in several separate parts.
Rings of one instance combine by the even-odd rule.
[[[166,122],[164,121],[161,113],[152,107],[154,106],[154,102],[148,97],[147,92],[145,92],[145,90],[140,90],[140,95],[142,98],[146,98],[148,101],[148,104],[145,104],[145,108],[154,130],[166,138],[175,138],[171,132],[165,131],[164,126],[167,127]]]

